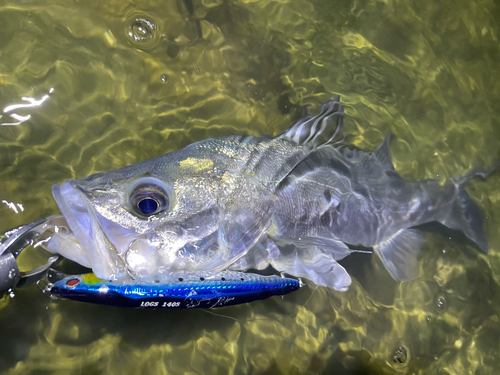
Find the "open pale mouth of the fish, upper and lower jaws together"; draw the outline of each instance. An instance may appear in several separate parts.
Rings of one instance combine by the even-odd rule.
[[[47,248],[92,268],[95,275],[107,280],[126,277],[125,262],[108,240],[86,192],[70,180],[62,185],[54,185],[52,194],[72,234],[55,233]]]

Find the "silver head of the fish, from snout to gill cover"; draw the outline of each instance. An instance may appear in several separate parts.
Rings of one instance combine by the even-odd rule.
[[[274,195],[196,150],[188,146],[53,187],[96,276],[149,281],[178,270],[223,270],[258,241]]]

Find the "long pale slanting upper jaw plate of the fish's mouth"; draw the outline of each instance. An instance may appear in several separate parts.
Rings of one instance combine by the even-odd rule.
[[[52,186],[52,195],[69,228],[83,247],[94,274],[107,280],[126,277],[124,261],[108,240],[85,189],[78,186],[76,181],[70,180],[62,185]],[[58,252],[65,256],[64,249],[60,250]]]

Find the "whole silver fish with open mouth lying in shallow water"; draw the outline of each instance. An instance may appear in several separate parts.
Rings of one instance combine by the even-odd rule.
[[[346,143],[344,114],[331,98],[277,137],[206,139],[54,185],[67,228],[46,248],[110,282],[272,267],[336,291],[352,283],[339,261],[366,249],[394,280],[418,276],[426,223],[488,251],[465,186],[498,162],[444,184],[408,181],[394,168],[390,135],[372,152],[357,149]]]

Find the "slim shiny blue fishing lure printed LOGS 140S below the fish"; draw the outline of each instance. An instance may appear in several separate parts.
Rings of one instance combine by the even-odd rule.
[[[94,274],[67,276],[55,281],[53,295],[66,299],[119,307],[153,309],[216,308],[284,295],[301,282],[252,273],[174,272],[157,283],[107,281]]]

